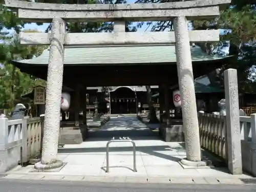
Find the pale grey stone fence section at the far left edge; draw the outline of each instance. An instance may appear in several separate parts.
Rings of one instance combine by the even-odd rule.
[[[25,119],[0,118],[0,173],[18,165],[24,129],[26,129]]]

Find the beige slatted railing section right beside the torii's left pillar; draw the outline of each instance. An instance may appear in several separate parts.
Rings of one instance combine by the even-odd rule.
[[[28,162],[40,154],[42,118],[27,118],[27,127],[23,130],[22,161]]]

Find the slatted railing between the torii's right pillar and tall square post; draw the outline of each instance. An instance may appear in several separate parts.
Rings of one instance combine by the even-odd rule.
[[[226,117],[198,113],[201,146],[227,162]]]

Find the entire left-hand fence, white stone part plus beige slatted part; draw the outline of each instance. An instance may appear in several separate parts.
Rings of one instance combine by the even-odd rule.
[[[0,173],[40,154],[40,117],[8,120],[0,118]]]

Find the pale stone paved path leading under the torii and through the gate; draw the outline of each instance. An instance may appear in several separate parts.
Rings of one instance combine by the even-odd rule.
[[[129,136],[136,142],[136,161],[138,172],[133,172],[133,153],[131,143],[111,143],[110,148],[110,173],[105,173],[106,168],[106,143],[113,137]],[[89,139],[81,144],[65,145],[59,148],[58,158],[67,164],[58,172],[31,173],[32,165],[12,170],[12,174],[40,174],[37,177],[47,179],[54,177],[68,179],[77,177],[81,179],[96,179],[114,181],[151,182],[207,182],[219,183],[223,179],[237,179],[243,176],[232,176],[227,173],[226,167],[183,169],[179,164],[186,157],[184,143],[164,142],[135,117],[112,118],[100,130],[89,133]],[[9,176],[12,177],[12,176]],[[14,177],[14,176],[13,176]],[[25,176],[22,176],[25,177]],[[34,176],[28,176],[36,178]],[[208,178],[210,177],[210,178]],[[154,178],[154,179],[151,179]],[[159,178],[159,179],[156,179]],[[187,179],[188,178],[188,179]],[[202,178],[206,178],[203,179]],[[207,181],[207,178],[209,181]]]

